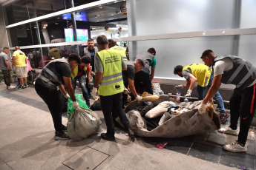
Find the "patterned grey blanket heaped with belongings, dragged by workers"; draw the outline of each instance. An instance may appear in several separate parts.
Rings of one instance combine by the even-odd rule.
[[[160,98],[157,101],[153,101],[153,103],[157,103],[157,106],[163,106],[161,109],[165,109],[166,112],[157,111],[159,123],[154,129],[148,128],[147,126],[147,121],[150,119],[142,118],[141,113],[137,111],[136,108],[140,106],[137,101],[132,101],[125,108],[125,112],[131,123],[131,129],[133,129],[136,135],[141,137],[183,137],[220,129],[220,117],[214,111],[214,106],[210,103],[207,104],[204,114],[200,115],[198,113],[198,107],[201,102],[202,101],[180,103],[169,98],[168,95],[161,95]],[[151,112],[151,110],[149,112]],[[146,115],[147,114],[148,112]],[[154,112],[152,114],[154,115]]]

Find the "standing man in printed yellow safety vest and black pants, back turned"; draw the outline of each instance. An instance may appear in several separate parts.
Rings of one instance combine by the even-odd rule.
[[[99,86],[98,93],[107,126],[107,132],[102,133],[101,137],[104,140],[115,140],[111,113],[116,112],[128,135],[134,138],[134,132],[131,130],[129,120],[122,109],[122,92],[124,91],[122,70],[127,69],[127,67],[118,52],[108,49],[108,39],[105,35],[99,35],[96,41],[100,52],[97,52],[94,58],[96,75],[92,96],[96,98],[96,91]]]

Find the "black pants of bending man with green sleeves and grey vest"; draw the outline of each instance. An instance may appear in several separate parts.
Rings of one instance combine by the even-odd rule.
[[[137,93],[142,94],[143,92],[148,92],[153,95],[151,78],[148,73],[140,71],[135,73],[134,86]]]

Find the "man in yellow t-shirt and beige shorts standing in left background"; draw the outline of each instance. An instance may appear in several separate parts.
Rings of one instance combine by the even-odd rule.
[[[16,76],[19,78],[21,85],[19,89],[26,88],[27,85],[27,61],[26,55],[21,51],[19,46],[15,47],[15,52],[13,52],[13,65],[16,67]]]

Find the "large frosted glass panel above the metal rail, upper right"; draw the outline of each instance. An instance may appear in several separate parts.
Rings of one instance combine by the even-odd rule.
[[[232,28],[235,1],[127,1],[130,36]],[[148,9],[154,9],[152,10]]]

